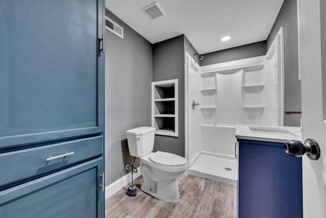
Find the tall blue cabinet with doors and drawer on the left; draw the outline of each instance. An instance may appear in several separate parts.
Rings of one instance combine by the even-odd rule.
[[[0,217],[104,217],[104,0],[0,1]]]

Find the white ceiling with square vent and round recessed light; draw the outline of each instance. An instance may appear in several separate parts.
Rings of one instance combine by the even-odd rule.
[[[184,34],[199,54],[267,39],[284,0],[157,0],[166,16],[141,9],[154,0],[105,0],[105,7],[151,43]],[[227,42],[220,39],[232,38]]]

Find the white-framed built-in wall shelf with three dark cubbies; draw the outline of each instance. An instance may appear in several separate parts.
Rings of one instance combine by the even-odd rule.
[[[152,82],[155,134],[178,137],[178,79]]]

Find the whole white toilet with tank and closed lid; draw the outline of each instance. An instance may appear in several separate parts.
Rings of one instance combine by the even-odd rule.
[[[129,153],[141,160],[143,184],[141,189],[163,201],[179,200],[177,178],[187,169],[187,160],[167,152],[155,152],[154,127],[139,127],[126,132]]]

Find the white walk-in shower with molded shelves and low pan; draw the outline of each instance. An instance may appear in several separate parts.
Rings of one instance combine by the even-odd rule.
[[[199,66],[185,54],[188,174],[236,185],[235,125],[283,126],[282,31],[264,56]]]

